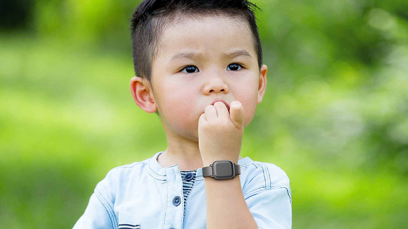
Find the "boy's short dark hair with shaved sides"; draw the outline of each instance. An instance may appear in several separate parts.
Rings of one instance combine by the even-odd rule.
[[[192,18],[226,15],[248,24],[253,34],[259,72],[262,65],[262,46],[256,25],[255,9],[248,0],[143,0],[133,11],[131,24],[133,67],[136,76],[151,85],[152,63],[160,44],[160,35],[171,22],[181,20],[176,15]],[[262,11],[259,9],[259,11]],[[153,87],[151,87],[153,90]]]

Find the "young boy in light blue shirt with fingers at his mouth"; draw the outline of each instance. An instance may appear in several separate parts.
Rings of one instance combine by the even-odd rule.
[[[168,146],[110,170],[75,229],[291,227],[285,172],[239,156],[266,88],[255,8],[246,0],[139,4],[131,94],[157,112]]]

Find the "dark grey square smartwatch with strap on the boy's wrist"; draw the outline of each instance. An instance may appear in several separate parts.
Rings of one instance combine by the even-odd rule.
[[[213,177],[216,180],[233,179],[236,174],[241,174],[241,167],[230,160],[214,161],[202,170],[203,177]]]

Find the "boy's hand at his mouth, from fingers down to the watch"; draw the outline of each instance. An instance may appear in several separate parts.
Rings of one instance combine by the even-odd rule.
[[[214,161],[238,162],[244,134],[244,107],[233,101],[230,110],[218,101],[208,105],[198,120],[198,146],[204,166]]]

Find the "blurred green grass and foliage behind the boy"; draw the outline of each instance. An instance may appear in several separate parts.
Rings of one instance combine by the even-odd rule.
[[[129,92],[139,2],[1,1],[0,228],[71,228],[111,168],[166,149]],[[407,228],[408,1],[257,5],[241,155],[288,174],[293,228]]]

